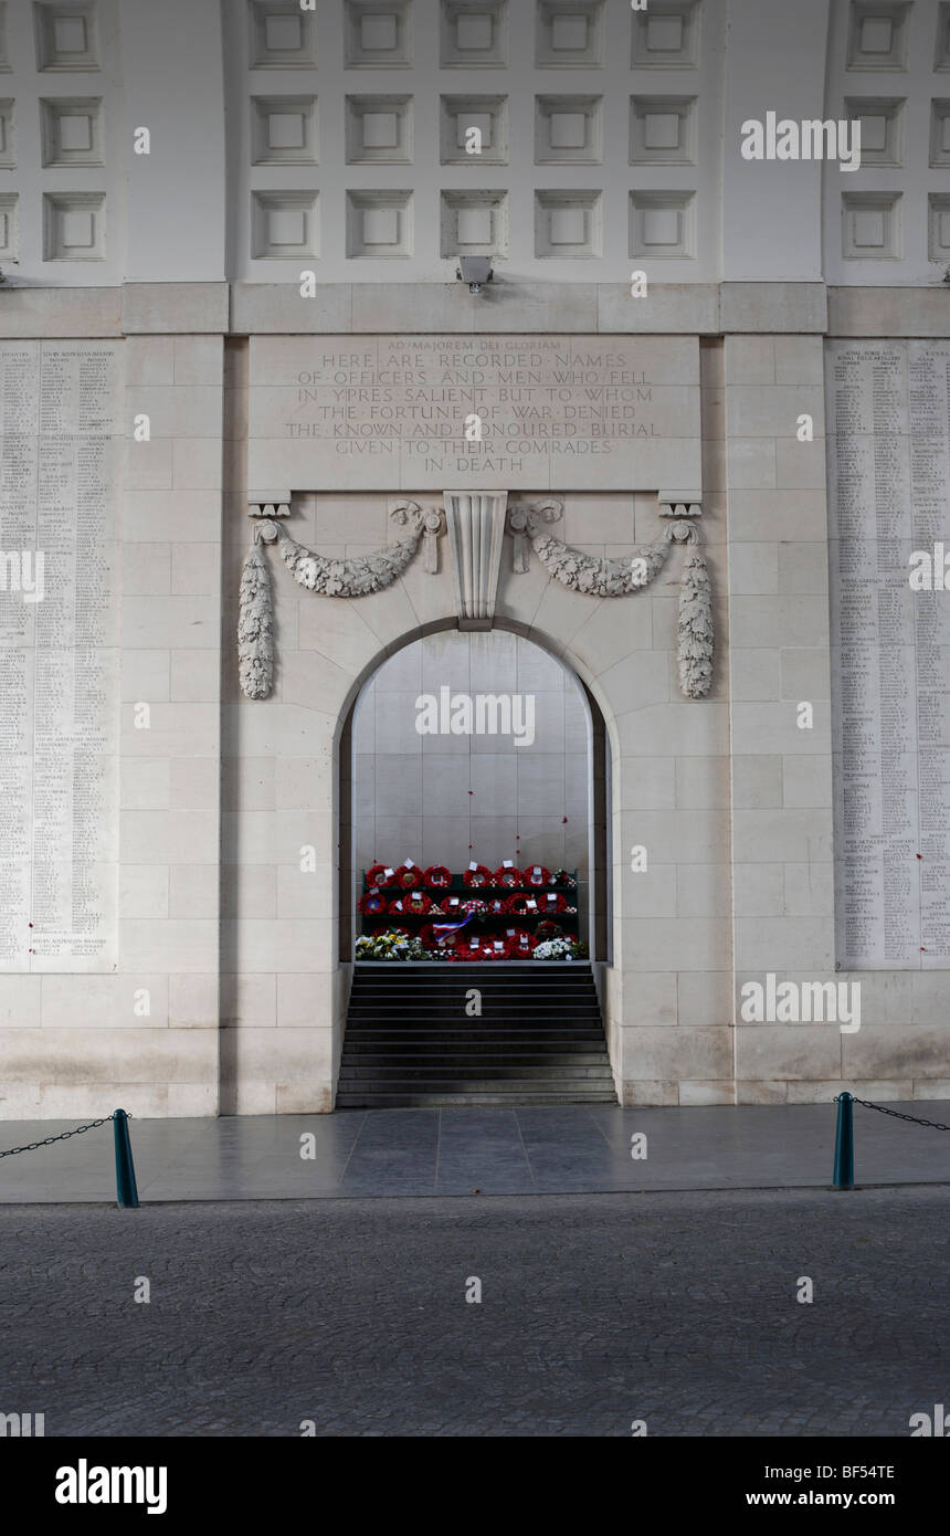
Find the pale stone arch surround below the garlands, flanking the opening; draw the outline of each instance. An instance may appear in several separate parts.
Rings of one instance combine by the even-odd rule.
[[[397,501],[347,504],[364,548],[387,542]],[[652,519],[652,504],[643,511]],[[299,538],[319,547],[313,508],[301,507],[301,521]],[[623,511],[617,536],[628,525],[634,544]],[[579,511],[566,538],[582,542],[583,531]],[[609,742],[611,946],[599,980],[618,1091],[625,1103],[726,1101],[729,708],[721,685],[701,700],[680,693],[678,571],[671,567],[642,593],[600,599],[560,585],[540,561],[517,570],[505,542],[493,622],[574,673]],[[239,886],[223,943],[229,1112],[333,1107],[351,977],[339,945],[341,743],[356,696],[385,656],[459,627],[447,554],[442,548],[434,571],[416,559],[387,590],[339,601],[301,590],[272,561],[273,696],[238,700],[226,716],[229,776],[239,785],[229,790],[224,834],[224,863],[233,866],[226,879]],[[316,879],[296,872],[302,843],[316,848]],[[649,845],[649,879],[631,874],[634,843]]]

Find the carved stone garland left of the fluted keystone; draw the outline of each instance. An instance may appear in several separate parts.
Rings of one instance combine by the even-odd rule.
[[[276,521],[285,515],[276,507],[273,513],[252,513],[258,521],[241,573],[238,605],[238,668],[241,691],[249,699],[267,699],[273,687],[273,599],[270,567],[259,548],[261,542],[276,542],[293,579],[307,591],[324,598],[365,598],[391,587],[416,558],[421,541],[427,571],[434,574],[439,568],[437,538],[445,528],[445,513],[440,508],[404,502],[391,518],[401,527],[408,527],[407,536],[385,550],[355,559],[336,559],[307,550]]]

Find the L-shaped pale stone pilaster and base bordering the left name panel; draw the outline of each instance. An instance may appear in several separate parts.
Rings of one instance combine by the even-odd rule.
[[[8,1118],[218,1111],[224,343],[120,353],[118,965],[0,977]]]

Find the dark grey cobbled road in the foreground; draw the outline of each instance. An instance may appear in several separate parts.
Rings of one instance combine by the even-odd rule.
[[[0,1412],[48,1436],[905,1438],[950,1404],[948,1217],[941,1187],[8,1206]]]

